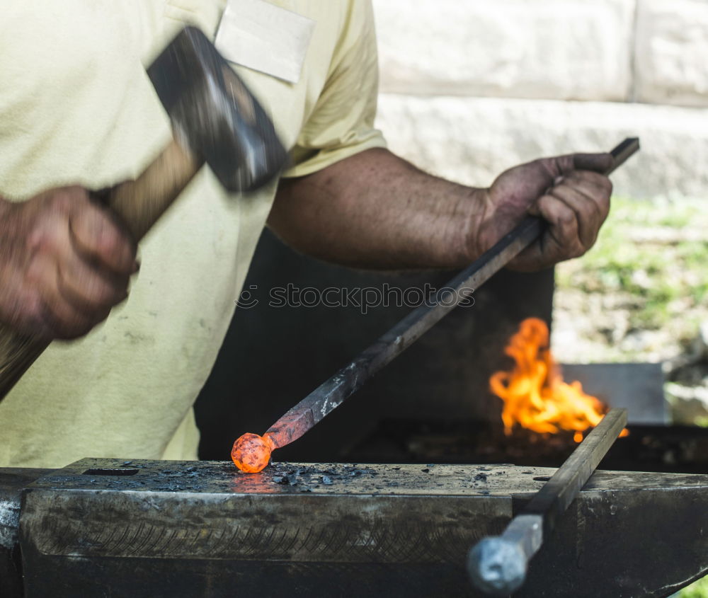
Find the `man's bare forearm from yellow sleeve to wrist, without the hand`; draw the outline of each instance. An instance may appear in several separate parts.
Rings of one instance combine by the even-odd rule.
[[[270,227],[298,251],[359,268],[457,268],[484,212],[480,190],[385,149],[280,183]]]

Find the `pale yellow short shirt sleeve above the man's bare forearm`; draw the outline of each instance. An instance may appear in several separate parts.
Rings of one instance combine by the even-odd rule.
[[[349,2],[329,76],[292,149],[292,166],[283,176],[297,177],[365,149],[385,147],[375,129],[379,67],[370,0]]]

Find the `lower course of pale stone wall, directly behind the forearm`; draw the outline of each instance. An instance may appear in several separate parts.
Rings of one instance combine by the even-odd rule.
[[[524,161],[639,136],[641,153],[613,176],[617,195],[705,198],[708,187],[704,109],[384,94],[377,125],[396,154],[461,183],[486,186]]]

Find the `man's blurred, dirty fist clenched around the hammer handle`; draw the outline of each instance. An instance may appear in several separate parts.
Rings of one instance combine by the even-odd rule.
[[[127,297],[136,247],[80,187],[0,200],[0,321],[42,338],[77,338]]]

